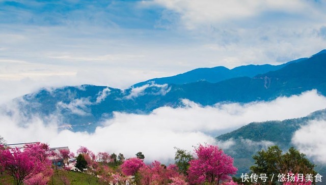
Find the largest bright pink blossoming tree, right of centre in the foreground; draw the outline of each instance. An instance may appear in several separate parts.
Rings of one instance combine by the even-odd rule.
[[[195,149],[197,158],[189,162],[188,178],[191,183],[219,184],[222,180],[230,179],[237,168],[233,159],[215,145],[199,145]]]

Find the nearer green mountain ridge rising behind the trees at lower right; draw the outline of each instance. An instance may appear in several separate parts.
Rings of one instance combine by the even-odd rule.
[[[312,120],[326,120],[326,109],[315,111],[305,117],[286,119],[283,121],[252,122],[232,132],[216,137],[218,142],[232,141],[234,145],[224,151],[234,158],[239,168],[238,174],[249,173],[254,165],[252,156],[261,149],[278,145],[283,151],[294,146],[291,143],[293,134]],[[295,146],[294,146],[295,147]],[[326,175],[326,165],[317,164],[315,168],[320,174]]]

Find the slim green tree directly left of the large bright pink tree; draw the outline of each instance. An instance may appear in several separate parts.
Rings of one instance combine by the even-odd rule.
[[[185,149],[180,149],[177,147],[174,147],[174,149],[177,150],[174,156],[175,164],[178,166],[179,172],[183,173],[184,175],[187,175],[189,161],[194,159],[193,155],[190,151],[187,151]]]

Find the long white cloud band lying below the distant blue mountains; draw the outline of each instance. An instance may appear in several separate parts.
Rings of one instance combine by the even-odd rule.
[[[148,162],[160,160],[166,163],[174,158],[174,146],[193,151],[193,146],[198,143],[214,144],[217,133],[231,131],[252,121],[306,116],[325,108],[326,98],[313,90],[300,96],[243,105],[202,107],[193,102],[184,103],[187,104],[185,108],[160,107],[148,115],[115,112],[112,119],[104,121],[103,126],[91,134],[58,130],[59,115],[49,117],[47,120],[52,121],[49,124],[35,116],[20,126],[18,122],[22,115],[16,110],[17,114],[11,117],[0,115],[0,135],[10,143],[37,140],[48,142],[53,147],[69,146],[73,151],[83,145],[95,152],[121,152],[126,157],[142,151]],[[227,148],[233,142],[219,144]],[[258,144],[267,146],[271,143],[262,141]]]

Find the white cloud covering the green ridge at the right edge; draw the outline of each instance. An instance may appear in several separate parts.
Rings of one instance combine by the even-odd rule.
[[[326,164],[326,120],[313,120],[298,129],[292,143],[317,163]]]

